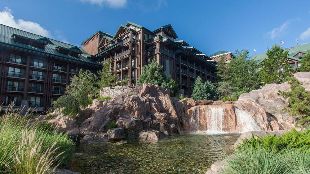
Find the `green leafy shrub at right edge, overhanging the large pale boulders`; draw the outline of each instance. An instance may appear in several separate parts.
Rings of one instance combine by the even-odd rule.
[[[304,125],[309,120],[310,116],[310,92],[306,91],[302,84],[295,78],[286,79],[291,86],[291,91],[279,91],[285,99],[288,98],[288,103],[291,109],[284,108],[291,117],[301,117],[301,123]]]

